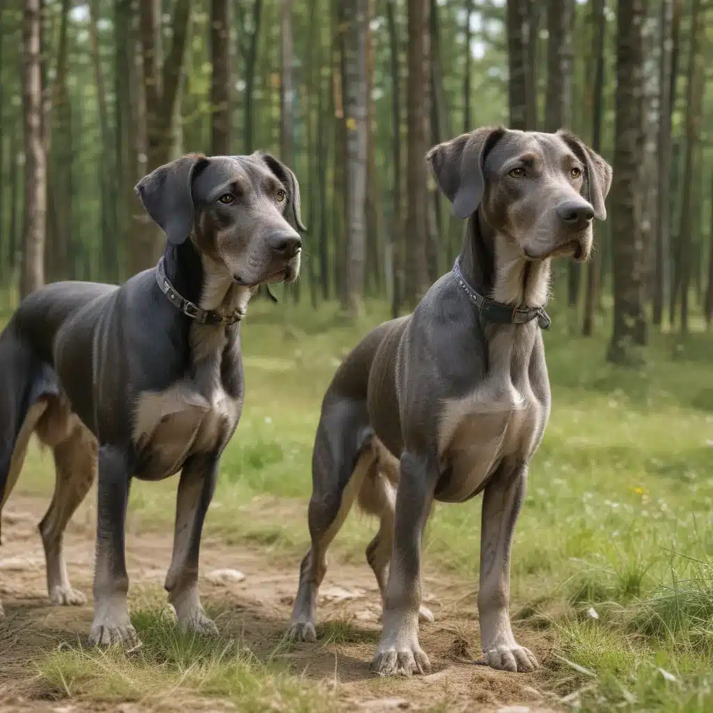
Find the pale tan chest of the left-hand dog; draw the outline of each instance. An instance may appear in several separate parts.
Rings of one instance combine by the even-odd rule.
[[[138,395],[133,441],[139,478],[173,475],[189,456],[220,451],[227,443],[240,417],[242,396],[231,396],[222,383],[224,347],[225,337],[198,344],[189,374],[168,389]]]

